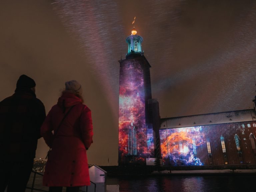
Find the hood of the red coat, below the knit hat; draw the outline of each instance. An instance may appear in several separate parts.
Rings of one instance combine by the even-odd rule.
[[[82,103],[82,100],[75,96],[73,93],[63,93],[62,96],[58,99],[57,105],[66,108],[79,103]]]

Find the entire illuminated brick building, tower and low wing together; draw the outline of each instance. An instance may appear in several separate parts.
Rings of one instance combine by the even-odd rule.
[[[119,165],[147,158],[168,166],[256,164],[255,108],[160,119],[143,38],[133,28],[126,42],[119,61]]]

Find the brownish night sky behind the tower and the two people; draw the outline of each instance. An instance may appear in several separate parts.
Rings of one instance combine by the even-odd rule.
[[[253,108],[253,0],[2,0],[0,100],[26,74],[48,112],[65,81],[79,81],[94,124],[89,163],[117,165],[117,61],[134,16],[162,118]],[[40,139],[37,157],[46,151]]]

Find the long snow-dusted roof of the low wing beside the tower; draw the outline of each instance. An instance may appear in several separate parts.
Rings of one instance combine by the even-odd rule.
[[[254,109],[163,118],[161,119],[160,129],[194,127],[201,125],[236,123],[245,121],[256,122],[256,113]]]

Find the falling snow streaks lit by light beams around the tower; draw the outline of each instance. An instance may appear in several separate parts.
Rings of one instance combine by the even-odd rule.
[[[118,94],[117,60],[125,57],[125,37],[137,16],[162,117],[253,107],[255,2],[55,2],[112,105],[117,105],[111,99]]]

